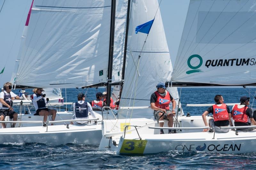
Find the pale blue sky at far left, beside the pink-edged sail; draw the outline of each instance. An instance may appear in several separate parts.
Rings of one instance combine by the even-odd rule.
[[[22,32],[32,0],[12,0],[0,3],[0,86],[12,81],[20,49]]]

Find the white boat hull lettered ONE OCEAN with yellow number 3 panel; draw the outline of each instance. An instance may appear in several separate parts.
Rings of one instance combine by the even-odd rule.
[[[209,117],[207,117],[207,120]],[[220,152],[220,153],[245,153],[256,152],[256,131],[242,132],[229,131],[227,133],[202,132],[203,129],[189,129],[178,131],[173,134],[166,134],[168,130],[164,130],[165,134],[159,134],[159,129],[149,129],[148,126],[158,127],[153,119],[131,119],[126,120],[130,125],[125,136],[121,128],[121,124],[125,119],[116,121],[116,128],[113,128],[113,120],[103,121],[103,138],[100,142],[100,150],[112,150],[117,153],[158,153],[168,152],[172,150],[191,152]],[[180,127],[204,127],[201,116],[179,117]],[[167,122],[164,122],[167,124]],[[124,125],[124,124],[122,124]],[[118,127],[119,126],[119,127]],[[140,127],[145,126],[145,127]],[[110,130],[113,129],[111,132]],[[140,140],[140,138],[141,140]],[[110,138],[109,138],[110,137]],[[114,142],[113,142],[114,141]],[[117,144],[117,145],[116,145]]]

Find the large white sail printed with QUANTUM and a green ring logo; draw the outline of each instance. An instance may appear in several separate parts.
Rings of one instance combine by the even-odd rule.
[[[172,81],[256,82],[254,0],[191,0]]]

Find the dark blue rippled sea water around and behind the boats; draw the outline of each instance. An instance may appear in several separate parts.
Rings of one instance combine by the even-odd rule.
[[[189,112],[190,115],[201,115],[208,107],[186,107],[186,104],[214,103],[214,96],[217,94],[223,96],[225,103],[239,103],[241,96],[249,96],[249,90],[253,96],[255,95],[256,89],[246,90],[243,88],[183,88],[181,89],[182,109],[185,114]],[[86,92],[86,99],[93,100],[97,91],[103,92],[104,89],[88,91],[67,89],[67,102],[76,102],[79,92]],[[180,93],[180,89],[178,91]],[[14,92],[18,94],[17,90]],[[66,97],[65,90],[62,90],[62,96]],[[251,104],[252,101],[251,98]],[[15,110],[18,111],[18,108]],[[98,145],[49,146],[41,143],[0,145],[1,169],[255,169],[255,165],[255,153],[169,151],[146,155],[118,155],[111,151],[99,151]]]

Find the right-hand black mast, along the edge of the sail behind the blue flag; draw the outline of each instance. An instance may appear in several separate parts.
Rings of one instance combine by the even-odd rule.
[[[124,72],[125,72],[127,39],[128,39],[129,19],[130,19],[130,6],[131,6],[131,0],[128,0],[127,15],[126,15],[125,39],[124,39],[124,61],[123,61],[123,68],[122,68],[122,80],[124,80]],[[121,87],[120,87],[120,94],[119,94],[120,99],[121,99],[122,90],[123,90],[123,86],[121,85]]]

